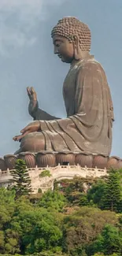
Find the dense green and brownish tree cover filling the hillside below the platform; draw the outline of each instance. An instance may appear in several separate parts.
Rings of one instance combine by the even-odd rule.
[[[121,172],[56,181],[54,191],[26,194],[0,188],[0,256],[122,254]]]

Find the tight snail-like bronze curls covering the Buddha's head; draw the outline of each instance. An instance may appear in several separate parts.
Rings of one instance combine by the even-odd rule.
[[[77,35],[79,38],[79,47],[81,50],[91,50],[91,31],[87,24],[84,24],[76,17],[64,17],[58,20],[57,25],[51,32],[51,37],[54,35],[64,36],[72,43],[72,36]]]

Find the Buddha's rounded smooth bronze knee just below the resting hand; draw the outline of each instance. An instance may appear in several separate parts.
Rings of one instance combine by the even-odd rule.
[[[45,150],[45,138],[42,132],[31,132],[25,135],[20,142],[22,151],[38,152]]]

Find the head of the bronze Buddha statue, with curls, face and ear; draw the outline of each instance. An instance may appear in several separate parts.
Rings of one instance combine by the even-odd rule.
[[[72,63],[88,54],[91,50],[91,31],[76,17],[64,17],[57,22],[51,32],[54,54],[61,61]]]

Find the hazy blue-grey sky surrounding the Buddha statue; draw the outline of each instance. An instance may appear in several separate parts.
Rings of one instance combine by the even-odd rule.
[[[13,141],[31,122],[27,86],[39,107],[65,117],[62,84],[68,65],[54,55],[51,29],[75,16],[91,28],[91,54],[105,69],[113,97],[112,154],[122,158],[122,0],[0,0],[0,155],[13,154]]]

